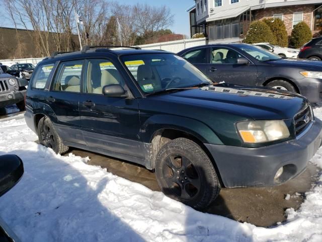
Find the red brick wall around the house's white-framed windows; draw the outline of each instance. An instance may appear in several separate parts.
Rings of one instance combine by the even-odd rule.
[[[272,18],[274,14],[283,14],[283,20],[286,26],[286,31],[288,35],[291,35],[293,29],[293,13],[303,12],[303,21],[311,28],[311,18],[313,10],[314,5],[297,5],[289,7],[261,9],[255,12],[255,19],[262,20],[264,18]],[[314,34],[317,31],[312,32]]]

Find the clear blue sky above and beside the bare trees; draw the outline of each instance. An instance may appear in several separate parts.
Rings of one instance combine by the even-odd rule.
[[[193,0],[115,0],[120,4],[149,4],[152,6],[166,5],[174,14],[174,23],[169,27],[177,34],[190,36],[189,13],[186,10],[194,4]],[[0,0],[1,2],[1,0]],[[0,8],[0,27],[14,27],[6,17],[5,8]]]

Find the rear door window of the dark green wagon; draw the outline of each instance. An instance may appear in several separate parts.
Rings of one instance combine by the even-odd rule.
[[[81,92],[82,69],[82,60],[60,64],[52,90],[62,92]]]

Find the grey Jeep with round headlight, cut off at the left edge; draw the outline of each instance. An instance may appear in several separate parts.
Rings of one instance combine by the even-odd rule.
[[[26,79],[17,79],[0,70],[0,109],[16,103],[21,111],[25,110],[24,97],[27,85]]]

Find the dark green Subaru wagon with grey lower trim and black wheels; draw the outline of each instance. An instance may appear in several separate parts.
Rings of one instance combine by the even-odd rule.
[[[165,51],[86,47],[53,54],[29,83],[25,119],[56,153],[77,147],[155,170],[195,208],[221,186],[272,186],[302,172],[321,122],[301,95],[213,84]]]

